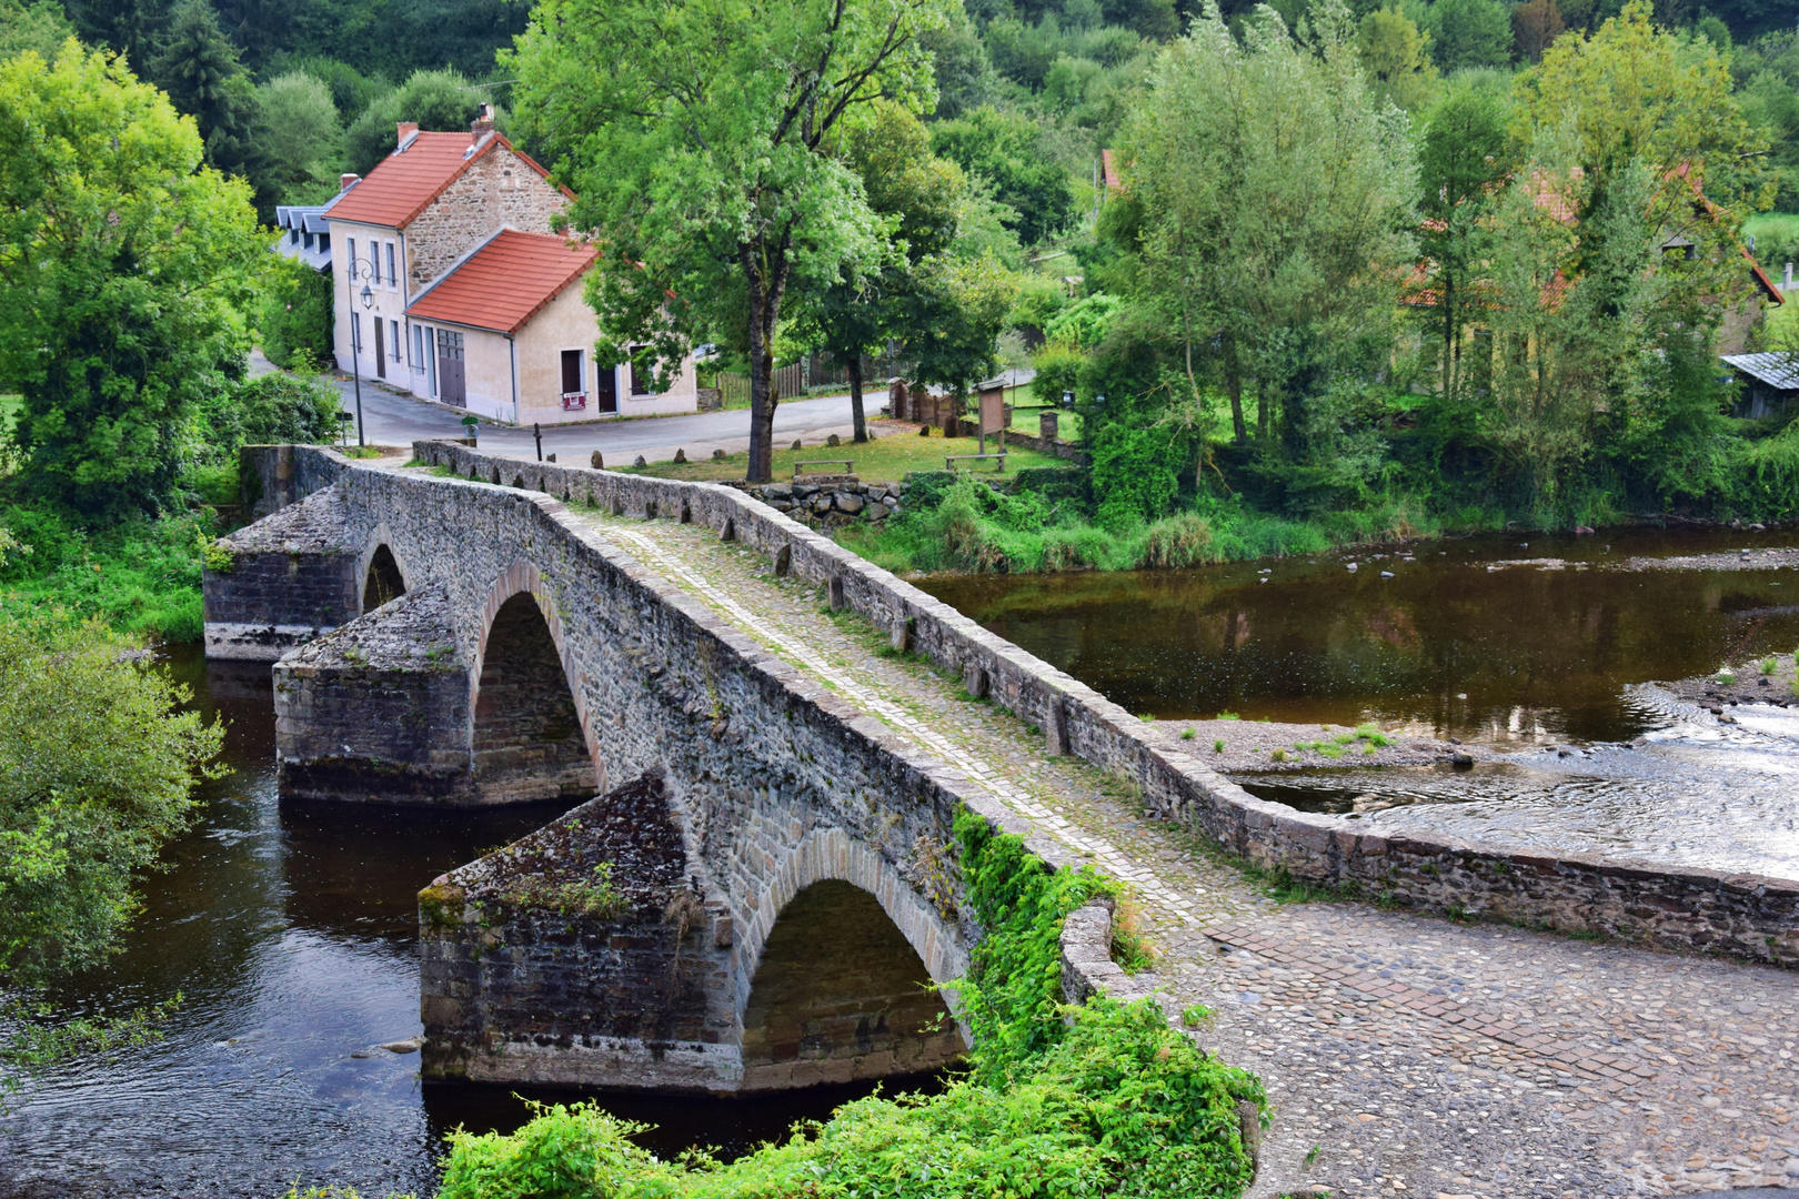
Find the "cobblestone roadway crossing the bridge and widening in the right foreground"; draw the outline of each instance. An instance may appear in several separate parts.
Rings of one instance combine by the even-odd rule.
[[[1132,884],[1169,1010],[1274,1102],[1256,1199],[1799,1188],[1799,978],[1275,902],[1130,787],[694,525],[585,514],[795,669]],[[1799,1190],[1790,1192],[1799,1199]]]

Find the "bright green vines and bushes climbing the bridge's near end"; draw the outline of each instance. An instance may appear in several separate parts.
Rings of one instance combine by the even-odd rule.
[[[1266,1122],[1256,1077],[1200,1052],[1148,1001],[1060,1003],[1061,922],[1110,884],[1043,870],[968,813],[957,839],[986,937],[957,985],[973,1070],[941,1095],[846,1104],[729,1165],[658,1161],[595,1106],[545,1106],[511,1136],[452,1134],[439,1199],[1240,1195],[1252,1167],[1238,1104]]]

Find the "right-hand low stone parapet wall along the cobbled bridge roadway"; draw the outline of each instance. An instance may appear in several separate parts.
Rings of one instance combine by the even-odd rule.
[[[826,588],[835,606],[889,629],[894,645],[971,679],[1038,726],[1045,751],[1076,753],[1132,778],[1153,816],[1204,830],[1265,868],[1436,911],[1799,965],[1799,881],[1389,838],[1258,800],[1085,683],[738,489],[511,462],[448,442],[417,442],[416,455],[464,478],[504,478],[621,514],[700,521],[741,539],[774,557],[777,570]]]

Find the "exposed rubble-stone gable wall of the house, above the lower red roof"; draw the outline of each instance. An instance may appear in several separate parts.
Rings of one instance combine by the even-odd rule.
[[[497,144],[407,225],[407,291],[417,295],[497,228],[549,234],[568,194]]]

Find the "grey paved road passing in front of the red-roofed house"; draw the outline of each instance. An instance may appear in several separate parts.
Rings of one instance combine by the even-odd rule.
[[[344,410],[356,412],[354,385],[336,381],[344,394]],[[878,395],[869,395],[869,413],[880,406]],[[462,437],[462,417],[441,404],[398,395],[363,379],[362,415],[367,439],[378,446],[410,446],[421,437]],[[851,431],[849,395],[783,401],[775,408],[775,444],[793,439],[822,442],[831,433],[847,437]],[[529,428],[480,426],[480,448],[511,458],[534,458],[536,444]],[[624,466],[637,455],[649,462],[675,457],[685,449],[689,458],[707,458],[714,449],[738,453],[750,448],[750,413],[700,412],[689,417],[644,417],[637,421],[595,421],[592,424],[565,424],[543,430],[543,453],[554,453],[563,462],[586,462],[599,449],[608,466]]]

